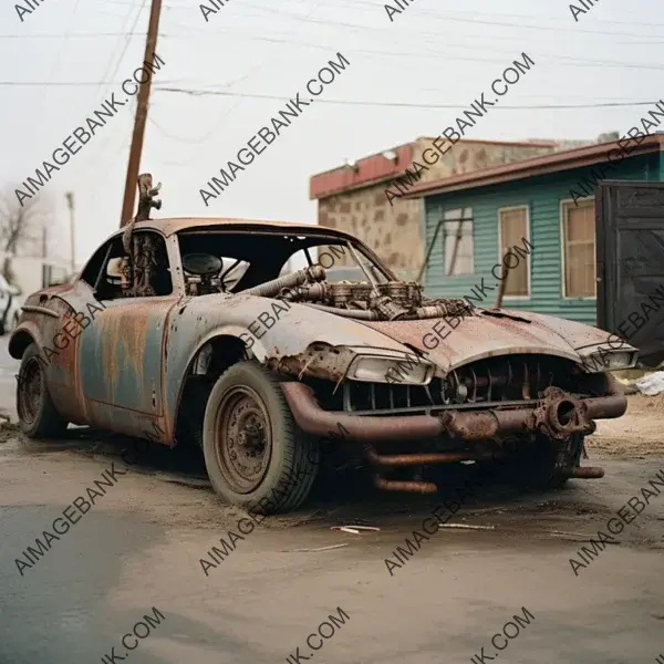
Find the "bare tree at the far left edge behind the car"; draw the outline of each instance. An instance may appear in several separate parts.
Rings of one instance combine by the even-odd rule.
[[[38,250],[44,225],[43,204],[39,197],[21,206],[13,187],[0,194],[0,272],[9,283],[15,283],[12,258],[21,250]]]

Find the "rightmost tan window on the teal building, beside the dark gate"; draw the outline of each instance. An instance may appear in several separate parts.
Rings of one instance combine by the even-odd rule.
[[[562,204],[563,297],[595,298],[594,200]]]

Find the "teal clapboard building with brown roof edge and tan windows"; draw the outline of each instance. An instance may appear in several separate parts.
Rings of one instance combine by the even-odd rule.
[[[663,135],[621,143],[629,155],[605,143],[413,187],[407,197],[424,199],[426,293],[492,307],[507,274],[504,308],[594,324],[596,183],[664,180]]]

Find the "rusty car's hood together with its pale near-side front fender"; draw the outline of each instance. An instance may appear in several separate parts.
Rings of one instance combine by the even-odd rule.
[[[342,375],[361,349],[412,353],[417,349],[447,373],[485,357],[509,354],[546,354],[581,362],[578,350],[592,352],[606,343],[606,332],[552,317],[500,310],[478,310],[453,329],[448,320],[369,322],[339,315],[304,303],[286,304],[270,298],[238,293],[210,294],[178,301],[172,326],[178,344],[200,347],[219,334],[239,336],[251,353],[291,373]],[[181,324],[180,324],[181,321]],[[331,354],[325,346],[336,349]],[[340,349],[350,353],[343,354]],[[175,353],[169,353],[169,363]],[[181,361],[189,362],[187,355]],[[319,367],[320,369],[320,367]],[[183,370],[184,371],[184,370]],[[313,372],[313,373],[312,373]]]

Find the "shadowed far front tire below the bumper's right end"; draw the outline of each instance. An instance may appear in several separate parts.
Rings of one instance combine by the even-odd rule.
[[[511,483],[529,490],[562,487],[581,461],[583,436],[572,435],[567,450],[562,449],[564,446],[560,440],[544,436],[522,446],[509,464]]]

